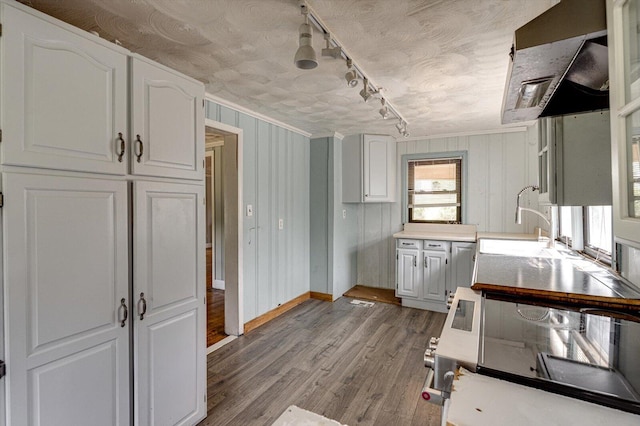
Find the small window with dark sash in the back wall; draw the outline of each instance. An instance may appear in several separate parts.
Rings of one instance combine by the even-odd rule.
[[[407,161],[409,222],[462,223],[462,157]]]

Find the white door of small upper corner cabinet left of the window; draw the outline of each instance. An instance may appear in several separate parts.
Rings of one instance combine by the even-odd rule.
[[[390,136],[363,136],[363,191],[365,203],[395,199],[396,147]]]

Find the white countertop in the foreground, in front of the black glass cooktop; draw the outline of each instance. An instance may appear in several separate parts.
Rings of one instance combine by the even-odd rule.
[[[640,424],[640,415],[472,373],[463,368],[447,402],[447,425]]]

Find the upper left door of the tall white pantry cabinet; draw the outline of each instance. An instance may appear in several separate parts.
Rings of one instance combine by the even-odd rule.
[[[2,164],[125,174],[122,49],[1,7]]]

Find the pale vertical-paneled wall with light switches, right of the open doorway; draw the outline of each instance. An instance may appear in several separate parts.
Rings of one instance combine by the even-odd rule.
[[[206,117],[243,131],[247,322],[309,291],[309,138],[211,101]]]

